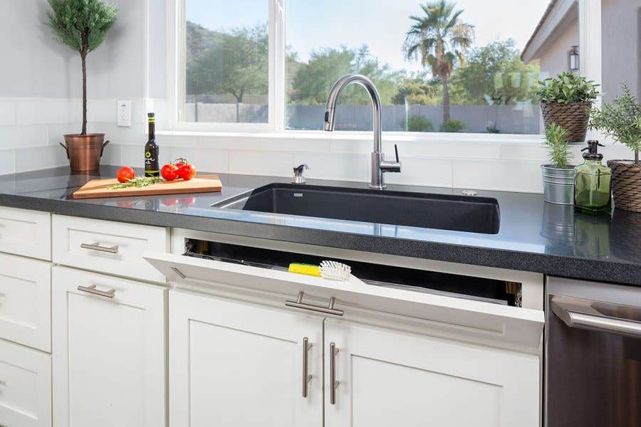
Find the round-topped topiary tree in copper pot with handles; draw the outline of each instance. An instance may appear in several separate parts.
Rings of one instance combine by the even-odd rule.
[[[83,129],[80,134],[65,135],[67,157],[76,171],[98,169],[105,134],[87,133],[87,55],[105,40],[113,26],[118,8],[100,0],[47,0],[47,25],[53,38],[80,54],[83,73]]]

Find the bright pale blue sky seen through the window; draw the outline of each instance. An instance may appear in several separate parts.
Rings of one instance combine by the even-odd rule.
[[[269,19],[269,0],[186,0],[187,19],[212,30],[229,30]],[[536,28],[549,0],[457,0],[461,19],[474,25],[474,46],[514,38],[520,50]],[[286,43],[306,62],[321,47],[363,44],[392,68],[420,70],[403,57],[410,15],[418,0],[286,0]]]

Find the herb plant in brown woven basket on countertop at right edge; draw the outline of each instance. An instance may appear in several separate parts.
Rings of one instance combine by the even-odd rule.
[[[641,105],[623,83],[622,93],[600,109],[590,111],[590,129],[601,130],[635,153],[634,160],[609,160],[615,207],[641,212]]]

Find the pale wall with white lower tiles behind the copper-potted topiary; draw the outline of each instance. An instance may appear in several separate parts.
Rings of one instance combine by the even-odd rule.
[[[88,56],[89,128],[112,142],[144,139],[145,1],[114,1],[118,21]],[[58,142],[80,132],[80,56],[53,41],[46,0],[0,0],[0,158],[6,172],[67,164]],[[135,100],[135,125],[115,132],[116,101]],[[120,148],[106,150],[120,162]]]

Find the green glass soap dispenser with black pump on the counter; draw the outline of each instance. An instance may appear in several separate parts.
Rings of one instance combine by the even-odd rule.
[[[601,163],[598,141],[591,139],[583,151],[585,162],[575,168],[574,209],[585,214],[610,214],[612,211],[612,169]],[[588,150],[588,152],[585,152]]]

